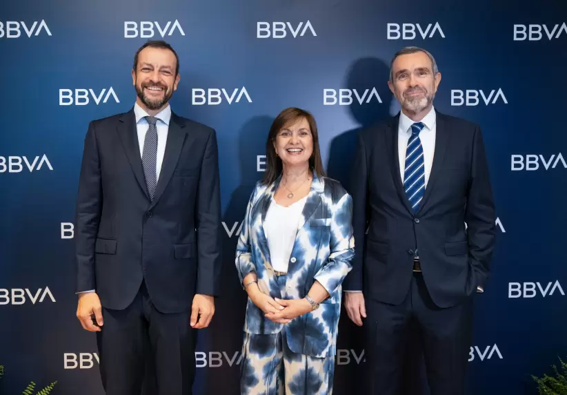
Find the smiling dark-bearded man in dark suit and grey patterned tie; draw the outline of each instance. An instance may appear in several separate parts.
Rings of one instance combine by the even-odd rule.
[[[217,137],[172,113],[179,78],[175,50],[148,41],[134,59],[134,108],[91,122],[85,139],[77,318],[97,331],[108,395],[139,395],[146,363],[159,388],[152,394],[190,394],[195,329],[208,327],[215,311]]]

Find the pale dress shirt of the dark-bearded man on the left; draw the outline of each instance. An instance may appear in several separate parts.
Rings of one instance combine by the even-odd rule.
[[[150,128],[150,124],[144,117],[148,117],[149,114],[146,113],[143,108],[141,108],[137,103],[134,104],[134,115],[136,117],[136,130],[138,134],[138,145],[140,146],[140,157],[143,155],[143,143],[146,139],[146,133]],[[156,182],[159,180],[159,173],[161,172],[161,164],[163,164],[163,155],[166,153],[166,142],[168,141],[168,130],[169,122],[171,119],[171,107],[168,106],[163,108],[159,113],[155,115],[158,119],[156,122],[157,128],[157,162],[156,162]],[[84,292],[94,292],[94,289],[89,291],[80,291],[77,293]]]

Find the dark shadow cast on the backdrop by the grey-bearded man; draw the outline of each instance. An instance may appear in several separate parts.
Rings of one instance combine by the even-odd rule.
[[[349,106],[350,114],[359,126],[350,131],[337,135],[332,139],[328,155],[328,176],[341,182],[348,190],[350,180],[350,164],[354,162],[357,135],[364,128],[368,128],[383,119],[395,115],[399,111],[399,104],[388,88],[390,66],[385,61],[375,57],[366,57],[355,61],[346,75],[346,86],[352,92],[352,104]],[[380,100],[370,95],[376,89]],[[354,90],[362,97],[359,103]],[[370,99],[369,99],[370,97]],[[356,175],[352,175],[355,177]],[[359,251],[357,251],[359,253]],[[370,322],[364,322],[365,326]],[[373,374],[366,371],[366,357],[364,356],[364,336],[367,327],[357,327],[348,318],[344,307],[341,308],[339,321],[339,338],[337,349],[337,368],[335,369],[335,394],[364,394],[364,377]],[[411,339],[416,336],[412,336]],[[410,340],[406,349],[406,366],[404,366],[403,394],[427,395],[427,382],[425,378],[424,363],[419,343]]]

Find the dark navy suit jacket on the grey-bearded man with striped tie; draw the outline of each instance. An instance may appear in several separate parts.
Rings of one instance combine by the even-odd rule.
[[[457,305],[485,287],[495,206],[481,130],[464,119],[438,111],[436,116],[435,154],[417,213],[400,177],[399,114],[359,133],[349,189],[357,247],[344,290],[400,304],[410,287],[415,249],[437,306]]]

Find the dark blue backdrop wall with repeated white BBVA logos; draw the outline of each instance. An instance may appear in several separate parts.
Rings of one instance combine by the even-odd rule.
[[[386,81],[408,45],[437,59],[437,109],[481,125],[495,191],[498,241],[475,307],[470,393],[535,394],[529,374],[567,356],[565,4],[1,2],[1,394],[30,380],[58,380],[54,394],[103,393],[95,336],[74,316],[77,181],[88,122],[132,107],[133,55],[150,38],[179,52],[172,108],[218,134],[223,296],[199,333],[197,394],[238,392],[245,295],[234,252],[272,119],[287,106],[310,110],[326,170],[345,183],[357,131],[399,110]],[[343,314],[336,394],[359,393],[360,339]],[[412,361],[408,372],[422,375]],[[427,393],[406,381],[409,393]]]

